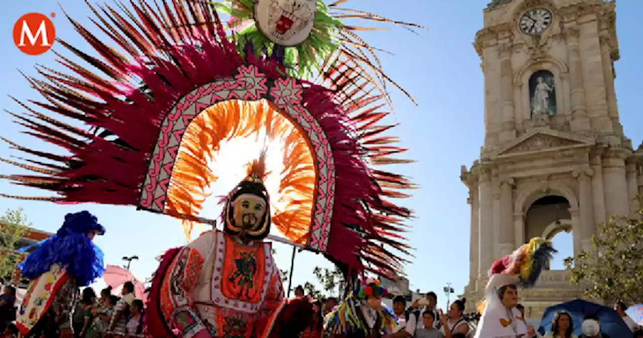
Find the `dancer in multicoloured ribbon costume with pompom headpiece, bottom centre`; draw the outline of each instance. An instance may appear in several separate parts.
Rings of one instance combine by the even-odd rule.
[[[326,316],[325,338],[379,338],[395,332],[397,319],[381,303],[386,289],[379,280],[368,278]]]

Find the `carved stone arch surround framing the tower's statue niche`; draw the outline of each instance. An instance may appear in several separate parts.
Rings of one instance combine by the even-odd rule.
[[[557,115],[570,114],[568,69],[565,63],[555,58],[545,58],[538,62],[528,63],[514,76],[514,85],[520,95],[520,115],[524,120],[531,119],[530,79],[538,72],[547,71],[552,74],[554,95],[556,96]]]

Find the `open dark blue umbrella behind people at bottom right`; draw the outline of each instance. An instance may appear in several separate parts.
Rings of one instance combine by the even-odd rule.
[[[581,335],[581,323],[583,322],[583,317],[594,315],[599,318],[599,322],[601,323],[601,332],[603,334],[608,334],[611,338],[632,336],[632,332],[629,330],[628,325],[625,324],[618,312],[613,308],[604,307],[586,300],[566,301],[565,303],[560,303],[545,309],[545,314],[543,314],[543,319],[541,319],[540,327],[538,328],[538,332],[540,332],[540,334],[545,334],[545,332],[552,330],[552,320],[554,319],[556,312],[559,311],[567,312],[572,317],[575,335]]]

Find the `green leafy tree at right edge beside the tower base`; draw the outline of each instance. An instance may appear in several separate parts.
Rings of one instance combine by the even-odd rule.
[[[570,282],[587,287],[584,296],[606,300],[643,301],[642,217],[612,217],[599,224],[592,250],[565,260]]]

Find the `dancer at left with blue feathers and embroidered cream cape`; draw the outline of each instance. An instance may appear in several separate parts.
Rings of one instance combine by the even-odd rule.
[[[103,253],[92,242],[95,235],[104,233],[89,212],[68,214],[58,232],[18,265],[31,280],[16,321],[24,337],[71,332],[70,311],[77,288],[93,283],[105,271]]]

